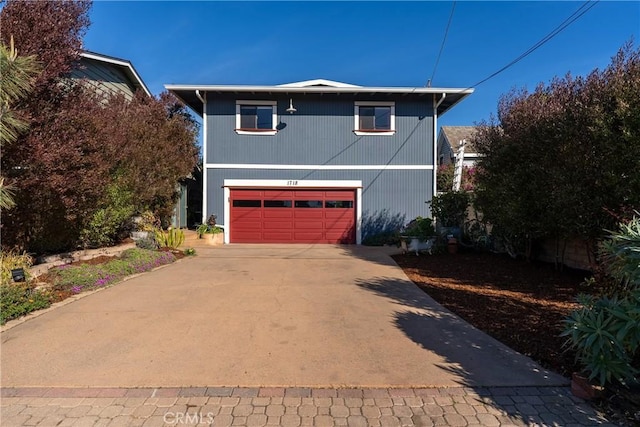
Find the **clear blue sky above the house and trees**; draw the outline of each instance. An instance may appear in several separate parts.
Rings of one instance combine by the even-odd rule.
[[[466,88],[497,71],[583,2],[458,1],[433,87]],[[85,49],[132,62],[154,94],[164,84],[281,84],[324,78],[424,86],[452,2],[95,1]],[[640,2],[600,1],[541,48],[441,117],[473,125],[501,94],[603,68],[631,37]]]

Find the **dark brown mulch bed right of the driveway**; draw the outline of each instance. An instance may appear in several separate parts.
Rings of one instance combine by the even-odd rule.
[[[476,328],[566,377],[580,370],[559,334],[576,296],[587,291],[581,283],[589,272],[492,253],[393,258],[420,289]],[[638,397],[610,390],[596,405],[621,425],[640,425]]]

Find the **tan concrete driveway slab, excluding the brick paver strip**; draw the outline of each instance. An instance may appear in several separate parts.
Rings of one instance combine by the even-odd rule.
[[[1,338],[3,387],[567,383],[366,247],[199,248]]]

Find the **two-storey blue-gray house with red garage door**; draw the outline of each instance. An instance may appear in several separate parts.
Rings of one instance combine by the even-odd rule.
[[[357,243],[430,216],[437,119],[473,89],[166,85],[202,116],[202,220],[226,243]]]

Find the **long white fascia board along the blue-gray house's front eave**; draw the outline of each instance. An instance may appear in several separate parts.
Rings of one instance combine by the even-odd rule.
[[[473,88],[434,88],[434,87],[286,87],[286,86],[248,86],[248,85],[164,85],[167,90],[211,91],[211,92],[266,92],[266,93],[391,93],[391,94],[454,94],[473,93]]]

